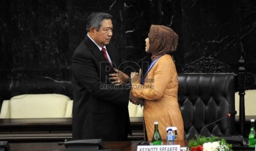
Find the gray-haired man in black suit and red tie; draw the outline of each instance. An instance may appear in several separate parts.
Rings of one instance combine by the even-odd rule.
[[[110,42],[111,19],[106,13],[90,14],[86,24],[88,34],[72,57],[74,140],[122,141],[131,135],[129,89],[123,86],[129,77],[116,69],[122,62]]]

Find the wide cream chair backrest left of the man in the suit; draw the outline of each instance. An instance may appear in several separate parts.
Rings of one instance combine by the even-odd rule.
[[[14,96],[9,101],[9,118],[64,118],[68,101],[60,94]]]

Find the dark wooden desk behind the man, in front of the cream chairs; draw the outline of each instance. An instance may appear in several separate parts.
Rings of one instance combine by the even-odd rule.
[[[133,136],[143,140],[143,119],[130,118]],[[0,119],[0,141],[64,141],[72,138],[72,118]]]

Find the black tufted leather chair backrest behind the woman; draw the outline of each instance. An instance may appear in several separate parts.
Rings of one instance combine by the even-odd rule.
[[[225,136],[235,130],[235,75],[232,73],[179,73],[178,102],[184,122],[184,139]],[[206,125],[211,124],[206,127]]]

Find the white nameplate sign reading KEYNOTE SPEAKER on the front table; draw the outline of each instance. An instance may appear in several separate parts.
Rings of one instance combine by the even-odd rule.
[[[180,145],[137,146],[137,151],[179,151]]]

